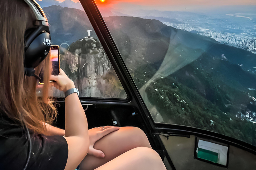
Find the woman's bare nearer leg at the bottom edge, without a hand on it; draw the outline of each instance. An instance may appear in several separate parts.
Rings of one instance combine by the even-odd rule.
[[[95,170],[166,170],[162,159],[148,147],[129,150]]]

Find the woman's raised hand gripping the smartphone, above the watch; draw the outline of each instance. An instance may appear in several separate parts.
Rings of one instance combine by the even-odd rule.
[[[60,74],[57,76],[51,75],[50,80],[54,80],[55,82],[51,82],[52,85],[64,93],[71,88],[75,88],[74,82],[68,78],[61,68]]]

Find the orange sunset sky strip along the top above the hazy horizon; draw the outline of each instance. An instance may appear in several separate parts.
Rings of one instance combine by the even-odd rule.
[[[41,0],[39,0],[41,1]],[[64,0],[55,0],[63,2]],[[80,2],[79,0],[72,0]],[[160,11],[198,11],[218,9],[220,6],[256,5],[256,0],[94,0],[98,7],[115,9],[155,9]]]

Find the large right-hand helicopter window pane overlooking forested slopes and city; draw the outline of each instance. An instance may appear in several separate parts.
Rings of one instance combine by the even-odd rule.
[[[255,1],[96,3],[155,122],[256,146]]]

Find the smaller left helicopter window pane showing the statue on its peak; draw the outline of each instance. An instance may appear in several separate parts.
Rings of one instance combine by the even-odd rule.
[[[127,98],[80,2],[37,1],[45,12],[52,44],[60,46],[60,68],[79,97]],[[53,96],[64,96],[53,89]]]

